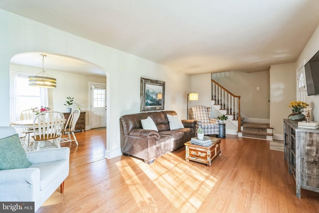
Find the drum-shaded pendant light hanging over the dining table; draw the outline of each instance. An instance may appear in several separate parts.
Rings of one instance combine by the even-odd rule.
[[[44,71],[44,57],[46,57],[46,55],[40,55],[42,55],[42,70],[36,75],[28,76],[29,86],[56,88],[56,79]]]

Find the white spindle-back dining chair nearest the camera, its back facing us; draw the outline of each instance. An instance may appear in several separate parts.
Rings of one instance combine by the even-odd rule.
[[[32,150],[60,147],[63,124],[64,115],[61,112],[47,111],[35,116]]]

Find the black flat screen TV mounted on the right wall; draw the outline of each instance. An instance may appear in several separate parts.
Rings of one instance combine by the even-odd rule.
[[[305,64],[308,95],[319,94],[319,51]]]

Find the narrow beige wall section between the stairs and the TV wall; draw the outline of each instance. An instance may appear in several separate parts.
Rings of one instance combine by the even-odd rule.
[[[274,139],[283,140],[283,119],[291,114],[288,107],[296,101],[295,63],[272,65],[270,68],[270,126]]]

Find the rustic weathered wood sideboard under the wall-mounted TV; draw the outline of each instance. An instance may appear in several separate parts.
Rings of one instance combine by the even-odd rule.
[[[298,121],[284,119],[284,159],[301,189],[319,192],[319,129],[298,128]]]

